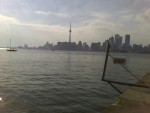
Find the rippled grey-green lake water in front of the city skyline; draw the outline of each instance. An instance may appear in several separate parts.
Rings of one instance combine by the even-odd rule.
[[[141,78],[149,54],[113,53]],[[0,113],[100,113],[119,93],[101,81],[105,53],[0,50]],[[107,78],[135,82],[109,59]],[[122,88],[125,90],[125,88]]]

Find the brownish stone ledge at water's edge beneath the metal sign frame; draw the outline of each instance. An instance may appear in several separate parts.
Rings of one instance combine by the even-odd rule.
[[[150,87],[150,72],[142,81]],[[130,87],[103,113],[150,113],[150,88]]]

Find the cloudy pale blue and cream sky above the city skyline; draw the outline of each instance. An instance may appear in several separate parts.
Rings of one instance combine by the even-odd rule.
[[[68,41],[70,21],[73,42],[150,44],[150,0],[0,0],[0,47]]]

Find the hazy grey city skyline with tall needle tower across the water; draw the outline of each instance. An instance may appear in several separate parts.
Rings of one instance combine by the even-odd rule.
[[[71,28],[71,27],[70,27]],[[97,51],[105,52],[108,42],[110,44],[111,52],[121,53],[150,53],[150,44],[143,46],[142,44],[130,44],[130,34],[126,34],[124,41],[123,37],[119,34],[115,34],[104,42],[92,42],[90,45],[86,42],[78,41],[71,42],[70,30],[69,41],[57,42],[57,44],[46,42],[44,45],[38,47],[29,47],[27,44],[24,46],[18,46],[19,49],[41,49],[41,50],[67,50],[67,51]]]

